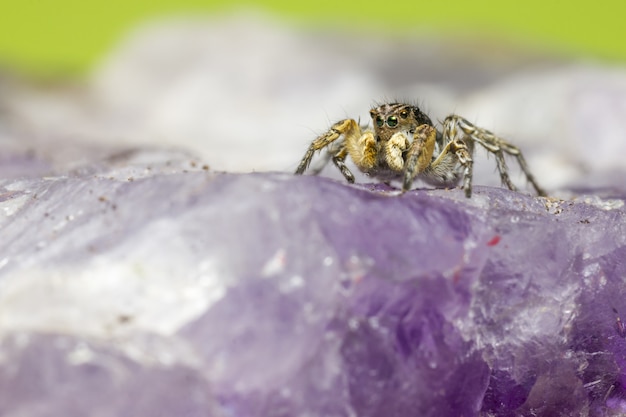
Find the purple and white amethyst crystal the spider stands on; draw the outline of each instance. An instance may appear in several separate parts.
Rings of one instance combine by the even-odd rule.
[[[0,415],[625,412],[623,189],[121,158],[2,183]]]

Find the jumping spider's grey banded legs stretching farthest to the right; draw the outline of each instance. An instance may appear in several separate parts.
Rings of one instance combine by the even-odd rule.
[[[528,165],[526,164],[526,160],[524,159],[524,156],[522,155],[522,152],[519,150],[519,148],[511,145],[504,139],[494,135],[486,129],[474,126],[460,116],[448,116],[444,121],[444,124],[446,126],[450,126],[451,130],[456,130],[456,127],[458,126],[458,128],[465,134],[468,139],[472,140],[473,142],[480,143],[485,149],[493,153],[496,157],[498,171],[500,172],[500,179],[502,183],[506,185],[510,190],[516,190],[517,188],[515,187],[515,185],[513,185],[509,177],[506,163],[504,160],[504,153],[515,156],[522,171],[524,172],[524,175],[526,175],[526,179],[535,188],[537,194],[540,196],[546,195],[543,189],[539,186],[539,184],[537,184],[535,177],[530,173]]]

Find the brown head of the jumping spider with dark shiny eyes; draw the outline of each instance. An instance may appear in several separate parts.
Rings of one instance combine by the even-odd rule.
[[[414,132],[418,126],[432,126],[430,118],[417,106],[388,103],[370,110],[376,140],[386,142],[396,132]]]

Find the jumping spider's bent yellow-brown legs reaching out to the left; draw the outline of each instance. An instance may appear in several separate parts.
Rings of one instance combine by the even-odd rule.
[[[298,165],[298,168],[296,169],[296,175],[304,174],[304,171],[306,171],[311,164],[311,160],[313,159],[313,155],[315,154],[315,152],[330,146],[342,135],[345,136],[346,141],[353,137],[360,137],[361,128],[354,119],[340,120],[339,122],[332,125],[326,133],[323,133],[322,135],[318,136],[313,142],[311,142],[311,145],[307,149],[304,157]],[[344,143],[339,146],[339,149],[333,155],[332,159],[333,163],[341,171],[346,180],[348,180],[348,182],[350,183],[353,183],[354,175],[352,174],[352,172],[350,172],[350,170],[344,163],[347,155],[348,149],[346,148],[346,145]],[[319,171],[321,171],[321,168],[319,170],[316,170],[316,173]]]

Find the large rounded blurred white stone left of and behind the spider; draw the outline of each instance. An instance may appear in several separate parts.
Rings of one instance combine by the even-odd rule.
[[[365,112],[376,88],[321,46],[250,17],[151,25],[107,59],[93,91],[136,141],[194,149],[217,169],[291,170],[326,111],[363,101]]]

